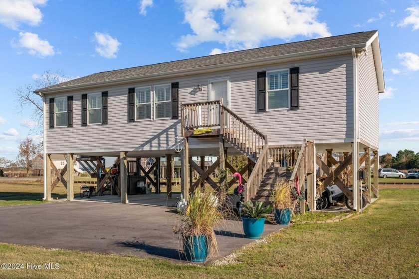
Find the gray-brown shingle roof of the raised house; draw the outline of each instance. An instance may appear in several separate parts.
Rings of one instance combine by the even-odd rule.
[[[321,50],[340,46],[350,46],[366,43],[377,30],[358,32],[340,36],[305,40],[299,42],[278,44],[273,46],[259,47],[241,51],[227,52],[222,54],[203,56],[191,59],[177,60],[166,63],[158,63],[146,66],[126,68],[120,70],[94,73],[84,77],[76,78],[67,82],[52,85],[46,88],[37,89],[41,92],[45,89],[61,88],[65,86],[87,85],[96,82],[106,82],[130,77],[141,77],[150,74],[165,73],[176,70],[193,69],[211,65],[228,64],[259,58],[296,54],[307,51]]]

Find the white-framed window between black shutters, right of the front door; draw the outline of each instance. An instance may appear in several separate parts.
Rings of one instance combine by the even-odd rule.
[[[280,70],[267,73],[268,109],[289,108],[289,72]]]

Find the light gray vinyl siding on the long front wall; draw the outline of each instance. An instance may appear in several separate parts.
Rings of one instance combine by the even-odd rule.
[[[257,113],[256,73],[290,67],[300,68],[300,109]],[[232,111],[267,134],[271,144],[303,139],[331,143],[352,141],[352,56],[340,55],[54,94],[46,98],[46,104],[49,104],[49,97],[73,95],[73,127],[47,128],[46,152],[173,150],[176,137],[181,136],[181,120],[153,119],[154,86],[179,82],[180,103],[207,101],[209,80],[216,78],[230,78]],[[201,92],[196,90],[199,83],[203,85]],[[128,88],[140,86],[152,87],[152,120],[129,123]],[[81,94],[102,91],[108,91],[108,124],[82,127]],[[46,110],[45,121],[49,123],[48,105]],[[198,147],[197,144],[191,140],[190,147]]]

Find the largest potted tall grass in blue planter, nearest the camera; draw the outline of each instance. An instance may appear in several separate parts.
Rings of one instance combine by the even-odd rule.
[[[191,194],[186,211],[180,212],[183,249],[190,262],[205,262],[217,251],[214,227],[223,218],[215,195],[199,190]]]

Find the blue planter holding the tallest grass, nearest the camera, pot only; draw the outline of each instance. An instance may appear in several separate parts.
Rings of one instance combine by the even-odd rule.
[[[184,236],[183,244],[186,259],[189,262],[207,261],[209,252],[207,236]]]

